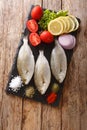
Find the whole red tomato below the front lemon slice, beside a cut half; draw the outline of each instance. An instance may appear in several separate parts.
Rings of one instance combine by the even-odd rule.
[[[48,43],[48,44],[54,41],[54,37],[49,31],[43,31],[40,34],[40,38],[44,43]]]

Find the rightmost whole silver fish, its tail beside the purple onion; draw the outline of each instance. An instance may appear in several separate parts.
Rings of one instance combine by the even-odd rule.
[[[59,83],[62,83],[67,72],[67,57],[57,39],[51,52],[50,64],[53,76]]]

